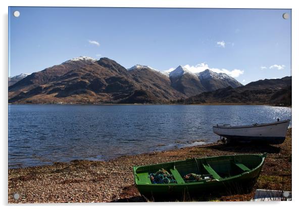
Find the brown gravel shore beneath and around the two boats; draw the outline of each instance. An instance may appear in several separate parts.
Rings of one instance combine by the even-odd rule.
[[[74,160],[68,163],[9,169],[9,203],[134,202],[146,201],[133,180],[133,165],[191,157],[264,153],[260,178],[248,194],[222,195],[190,201],[246,201],[255,189],[291,191],[291,129],[281,145],[224,145],[214,143],[148,154],[122,156],[110,161]],[[20,195],[14,199],[14,193]],[[187,200],[189,201],[189,200]]]

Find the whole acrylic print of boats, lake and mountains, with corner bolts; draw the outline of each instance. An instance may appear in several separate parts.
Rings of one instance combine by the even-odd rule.
[[[9,7],[8,202],[291,200],[291,15]]]

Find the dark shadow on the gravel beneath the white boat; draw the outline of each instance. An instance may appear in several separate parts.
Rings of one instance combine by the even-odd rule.
[[[215,149],[225,152],[246,152],[246,153],[280,153],[280,146],[273,146],[269,144],[257,144],[257,143],[230,143],[230,144],[217,144],[207,146],[208,149]]]

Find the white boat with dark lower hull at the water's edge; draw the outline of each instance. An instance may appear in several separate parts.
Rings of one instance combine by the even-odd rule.
[[[214,125],[213,132],[228,142],[263,142],[282,144],[285,141],[290,120],[244,126]]]

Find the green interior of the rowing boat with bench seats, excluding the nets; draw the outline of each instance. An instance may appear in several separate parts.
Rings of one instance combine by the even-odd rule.
[[[256,155],[254,158],[252,158],[252,155],[192,158],[155,165],[138,166],[135,170],[135,179],[137,184],[152,184],[149,174],[165,169],[169,174],[173,175],[176,181],[173,184],[186,183],[185,176],[191,173],[208,178],[200,180],[202,182],[222,180],[249,172],[255,169],[261,161],[261,155]]]

